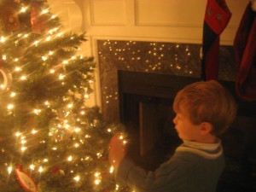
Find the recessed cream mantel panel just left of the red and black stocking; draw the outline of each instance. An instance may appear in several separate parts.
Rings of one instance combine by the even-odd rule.
[[[206,1],[135,1],[137,26],[202,26]]]

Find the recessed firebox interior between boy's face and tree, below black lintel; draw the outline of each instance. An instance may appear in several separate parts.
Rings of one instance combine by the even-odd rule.
[[[123,123],[131,137],[129,155],[139,166],[154,170],[181,143],[172,123],[172,100],[124,94],[123,101]]]

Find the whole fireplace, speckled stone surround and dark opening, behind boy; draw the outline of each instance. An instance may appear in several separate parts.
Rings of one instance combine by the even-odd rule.
[[[173,97],[200,81],[200,44],[98,40],[102,113],[131,137],[128,155],[154,170],[181,143],[174,131]],[[235,96],[232,46],[220,46],[219,78]],[[234,124],[222,137],[226,169],[218,192],[256,191],[256,102],[237,98]]]

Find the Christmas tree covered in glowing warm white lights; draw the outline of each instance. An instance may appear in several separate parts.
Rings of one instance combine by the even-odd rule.
[[[122,130],[86,107],[96,65],[78,55],[85,34],[61,32],[45,0],[0,10],[1,191],[125,191],[108,164]]]

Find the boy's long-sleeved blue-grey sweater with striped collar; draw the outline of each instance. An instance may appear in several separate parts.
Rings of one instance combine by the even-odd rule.
[[[136,192],[215,192],[224,169],[221,143],[184,142],[170,160],[154,172],[146,172],[125,159],[116,179]]]

